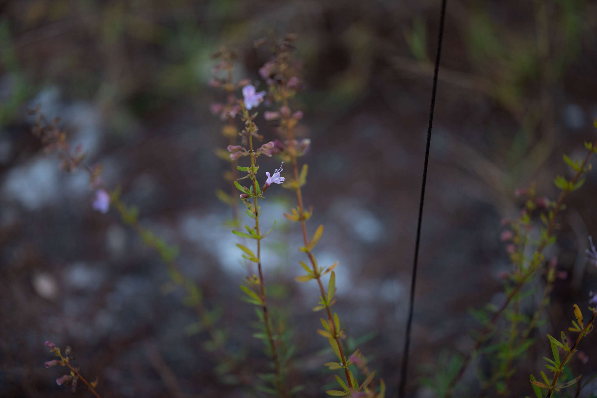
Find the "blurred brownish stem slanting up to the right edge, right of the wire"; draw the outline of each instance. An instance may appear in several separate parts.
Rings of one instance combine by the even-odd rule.
[[[595,141],[595,143],[593,143],[593,146],[595,146],[595,145],[597,145],[597,141]],[[587,166],[587,163],[589,162],[589,159],[590,159],[591,155],[593,155],[593,150],[589,150],[589,153],[587,153],[587,155],[585,156],[585,158],[583,160],[583,163],[580,166],[580,169],[574,175],[574,178],[571,181],[571,183],[573,185],[577,183],[578,178],[580,178],[580,176],[584,173],[584,171],[586,169],[586,166]],[[541,240],[541,243],[539,244],[539,246],[537,247],[537,250],[535,252],[536,255],[541,254],[541,252],[543,252],[543,249],[546,248],[547,243],[549,243],[549,238],[552,235],[553,229],[556,226],[555,220],[556,220],[556,217],[557,217],[557,215],[559,213],[559,209],[562,207],[562,204],[564,204],[564,199],[566,199],[566,197],[568,196],[569,192],[570,191],[568,191],[568,190],[562,190],[562,192],[560,193],[559,198],[558,198],[558,202],[556,203],[556,206],[555,206],[555,209],[553,209],[552,218],[551,218],[551,220],[549,220],[549,225],[547,226],[547,232],[546,232],[545,236],[543,237],[543,239]],[[477,342],[476,342],[475,346],[473,347],[473,349],[471,351],[469,351],[469,353],[466,354],[466,357],[464,357],[464,361],[463,361],[462,365],[460,366],[460,369],[458,369],[456,377],[454,377],[452,379],[452,381],[450,382],[450,384],[448,385],[448,393],[446,394],[446,398],[450,398],[452,396],[452,392],[453,392],[454,386],[456,385],[456,383],[458,382],[458,380],[460,380],[460,378],[464,374],[464,371],[469,366],[470,359],[472,358],[472,355],[474,353],[476,353],[477,350],[479,350],[479,348],[481,347],[481,344],[484,341],[484,338],[496,326],[497,320],[500,318],[501,313],[510,304],[510,301],[512,301],[512,298],[514,298],[515,295],[518,294],[518,292],[520,291],[520,289],[522,288],[522,286],[525,284],[525,282],[527,282],[527,279],[529,277],[531,277],[537,271],[537,269],[538,269],[538,264],[535,265],[535,266],[531,266],[530,269],[522,275],[522,278],[518,281],[518,283],[516,283],[516,285],[514,286],[514,288],[512,289],[512,291],[510,292],[510,294],[507,295],[506,301],[504,301],[504,304],[501,305],[501,307],[496,311],[496,313],[494,314],[494,316],[491,318],[491,322],[487,326],[485,326],[485,329],[483,329],[483,331],[481,332],[481,334],[480,334],[479,338],[477,339]]]

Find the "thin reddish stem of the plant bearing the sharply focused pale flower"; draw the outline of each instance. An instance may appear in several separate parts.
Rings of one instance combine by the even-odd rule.
[[[255,169],[256,155],[253,152],[253,136],[252,135],[249,135],[249,151],[250,151],[249,153],[251,155],[251,173],[253,173],[254,169]],[[257,184],[257,178],[255,177],[254,174],[251,174],[251,180],[253,180],[253,192],[257,195],[257,192],[259,192],[259,186]],[[257,233],[257,236],[261,236],[261,232],[259,230],[259,207],[257,206],[257,196],[255,196],[254,199],[255,199],[255,202],[254,202],[255,232]],[[269,311],[267,310],[267,301],[266,301],[266,297],[265,297],[265,282],[263,279],[263,271],[261,270],[261,238],[260,237],[257,238],[257,260],[258,260],[257,270],[259,271],[259,289],[260,289],[261,302],[263,303],[261,308],[263,308],[263,320],[265,323],[265,331],[267,334],[267,340],[269,341],[270,350],[272,351],[273,365],[274,365],[274,370],[275,370],[275,374],[276,374],[276,387],[278,387],[278,392],[280,393],[280,396],[286,397],[287,393],[286,393],[286,389],[284,388],[284,383],[282,383],[280,362],[278,359],[278,351],[276,351],[276,343],[275,343],[275,341],[273,341],[272,328],[270,327],[270,322],[269,322]]]

